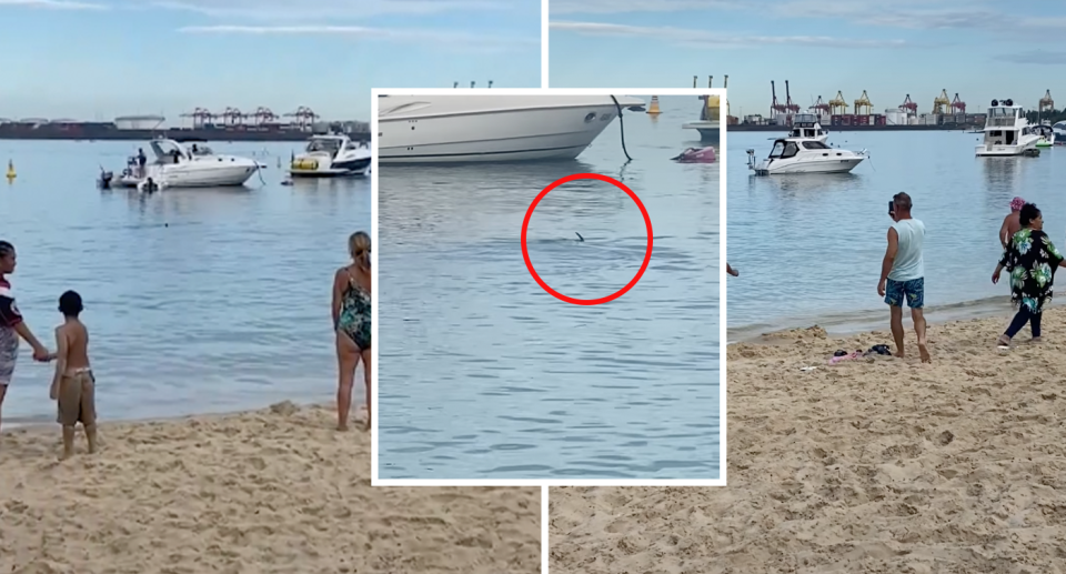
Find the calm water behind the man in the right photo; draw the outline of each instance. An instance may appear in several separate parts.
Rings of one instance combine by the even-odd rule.
[[[829,143],[872,155],[846,175],[752,177],[772,134],[730,134],[730,340],[814,323],[831,331],[887,326],[877,295],[888,201],[906,191],[925,222],[931,321],[1005,313],[1009,288],[992,284],[997,233],[1010,199],[1044,211],[1045,230],[1066,246],[1066,149],[1039,158],[975,158],[978,134],[837,132]]]

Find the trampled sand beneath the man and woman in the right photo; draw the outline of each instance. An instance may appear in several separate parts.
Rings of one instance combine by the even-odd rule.
[[[1066,572],[1066,310],[1006,322],[932,324],[931,365],[913,331],[731,345],[730,485],[552,489],[551,572]]]

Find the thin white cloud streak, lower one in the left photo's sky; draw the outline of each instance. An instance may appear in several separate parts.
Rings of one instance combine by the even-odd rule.
[[[499,38],[464,32],[440,30],[386,29],[362,26],[190,26],[179,28],[181,33],[190,34],[234,34],[234,36],[341,36],[353,39],[411,40],[439,42],[444,47],[453,44],[507,47],[540,44],[540,38]]]

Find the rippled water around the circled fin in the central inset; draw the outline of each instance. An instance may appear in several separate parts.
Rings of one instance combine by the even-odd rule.
[[[694,98],[657,121],[624,115],[575,162],[382,168],[379,175],[379,474],[384,479],[718,476],[718,164],[670,158]],[[536,194],[580,172],[643,201],[654,252],[611,303],[543,291],[520,233]],[[576,242],[580,232],[585,242]],[[599,181],[549,193],[529,230],[533,265],[593,299],[641,266],[643,218]]]

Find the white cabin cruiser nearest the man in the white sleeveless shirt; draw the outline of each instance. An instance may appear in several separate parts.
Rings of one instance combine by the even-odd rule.
[[[765,160],[755,162],[747,150],[747,167],[756,175],[781,173],[847,173],[866,159],[866,150],[854,152],[831,148],[816,138],[781,138]]]

